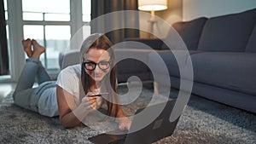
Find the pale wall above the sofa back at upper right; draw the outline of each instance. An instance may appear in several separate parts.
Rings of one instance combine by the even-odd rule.
[[[183,20],[233,14],[256,8],[256,0],[183,0]]]

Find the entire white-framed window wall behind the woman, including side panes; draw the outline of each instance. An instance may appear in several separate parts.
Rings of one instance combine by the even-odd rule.
[[[70,48],[73,35],[83,26],[83,37],[90,35],[90,0],[3,0],[9,46],[20,47],[20,41],[34,38],[46,47],[40,57],[49,72],[60,71],[58,56]],[[9,30],[9,31],[8,31]],[[22,35],[23,34],[23,35]],[[19,78],[24,56],[9,48],[11,78]],[[79,49],[79,48],[76,48]],[[22,52],[22,49],[20,49]]]

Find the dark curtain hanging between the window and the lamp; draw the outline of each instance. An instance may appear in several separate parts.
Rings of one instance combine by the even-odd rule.
[[[137,0],[91,0],[91,19],[101,16],[102,14],[108,14],[120,10],[137,10]],[[108,19],[108,18],[107,18]],[[108,26],[119,25],[133,25],[138,27],[139,20],[138,14],[134,13],[129,15],[117,15],[116,18],[110,20],[102,20],[98,22],[100,24],[92,23],[91,32],[101,32],[100,29]],[[105,33],[105,32],[104,32]],[[126,37],[139,37],[139,30],[124,28],[107,32],[107,36],[113,43],[119,43]]]

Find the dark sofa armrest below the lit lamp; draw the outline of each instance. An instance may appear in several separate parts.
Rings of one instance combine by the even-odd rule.
[[[125,42],[133,41],[138,43],[147,44],[151,49],[162,49],[163,41],[159,38],[125,38]],[[127,43],[129,46],[129,43]],[[147,49],[147,48],[135,48],[135,49]]]

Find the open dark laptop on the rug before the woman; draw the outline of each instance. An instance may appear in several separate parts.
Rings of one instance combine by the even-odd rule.
[[[160,112],[160,115],[142,130],[137,130],[127,134],[124,134],[122,131],[124,135],[101,134],[90,137],[88,140],[96,144],[148,144],[154,141],[159,141],[166,136],[172,135],[176,128],[179,118],[177,118],[174,122],[169,121],[174,104],[175,100],[169,100],[167,103],[159,103],[154,106],[147,107],[149,112],[155,112],[154,110],[158,110],[160,107],[164,107],[163,105],[166,105],[166,107]],[[142,112],[143,109],[144,108],[138,109],[135,114]],[[132,120],[130,130],[133,131],[137,129],[137,124],[142,123],[142,120],[142,118],[135,117]]]

